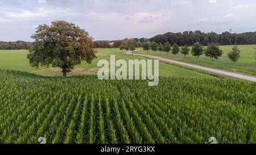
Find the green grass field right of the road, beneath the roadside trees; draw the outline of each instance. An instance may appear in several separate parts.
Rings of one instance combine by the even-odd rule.
[[[205,47],[206,48],[206,47]],[[220,57],[218,60],[213,61],[213,66],[215,68],[220,68],[224,70],[230,70],[232,72],[241,72],[256,75],[256,60],[255,60],[255,52],[256,45],[238,45],[238,48],[241,50],[241,58],[238,62],[234,63],[229,60],[228,53],[232,51],[233,45],[225,45],[220,46],[220,49],[223,50],[224,55]],[[138,51],[138,54],[146,55],[147,51]],[[153,51],[148,51],[148,55],[154,55]],[[166,52],[155,52],[156,56],[167,58]],[[168,54],[168,58],[180,61],[187,61],[190,63],[196,63],[196,57],[191,54],[184,58],[184,55],[179,53],[178,55]],[[204,66],[212,66],[212,60],[209,57],[205,57],[204,55],[199,57],[199,65]]]

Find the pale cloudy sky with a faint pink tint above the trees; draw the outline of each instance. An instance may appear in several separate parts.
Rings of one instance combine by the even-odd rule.
[[[256,31],[255,0],[1,0],[0,40],[32,41],[39,24],[66,20],[94,40],[166,32]]]

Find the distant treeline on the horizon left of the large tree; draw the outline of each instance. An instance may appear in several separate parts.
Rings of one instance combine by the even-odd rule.
[[[0,49],[28,49],[32,43],[26,41],[4,42],[0,41]]]

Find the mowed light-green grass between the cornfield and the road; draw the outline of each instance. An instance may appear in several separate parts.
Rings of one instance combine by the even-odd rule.
[[[92,64],[82,62],[68,75],[94,75],[100,69],[97,63],[101,59],[110,61],[110,55],[115,55],[115,60],[141,60],[146,59],[138,56],[122,55],[122,52],[117,48],[97,49],[97,59],[93,60]],[[22,72],[34,73],[42,76],[62,76],[61,69],[58,68],[32,68],[27,59],[27,50],[0,50],[0,69],[18,70]],[[118,68],[117,68],[118,69]],[[181,68],[175,65],[169,65],[163,62],[159,63],[160,76],[168,77],[205,77],[211,78],[209,74],[197,72],[191,69]]]

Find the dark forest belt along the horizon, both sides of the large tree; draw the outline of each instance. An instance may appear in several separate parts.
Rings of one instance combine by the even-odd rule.
[[[166,43],[169,42],[171,45],[175,43],[179,46],[183,45],[193,45],[199,42],[201,45],[208,45],[210,43],[218,43],[219,45],[247,45],[256,44],[256,32],[245,32],[245,33],[230,33],[223,32],[217,34],[215,32],[205,33],[201,31],[185,31],[183,33],[173,33],[167,32],[163,35],[156,35],[150,39],[147,38],[133,38],[133,39],[123,39],[115,41],[94,41],[94,48],[118,48],[123,43],[123,41],[134,41],[137,43],[136,47],[141,47],[141,45],[147,41],[155,41],[156,43]],[[109,43],[114,43],[110,45]],[[15,42],[3,42],[0,41],[0,49],[28,49],[32,43],[26,41],[15,41]]]

